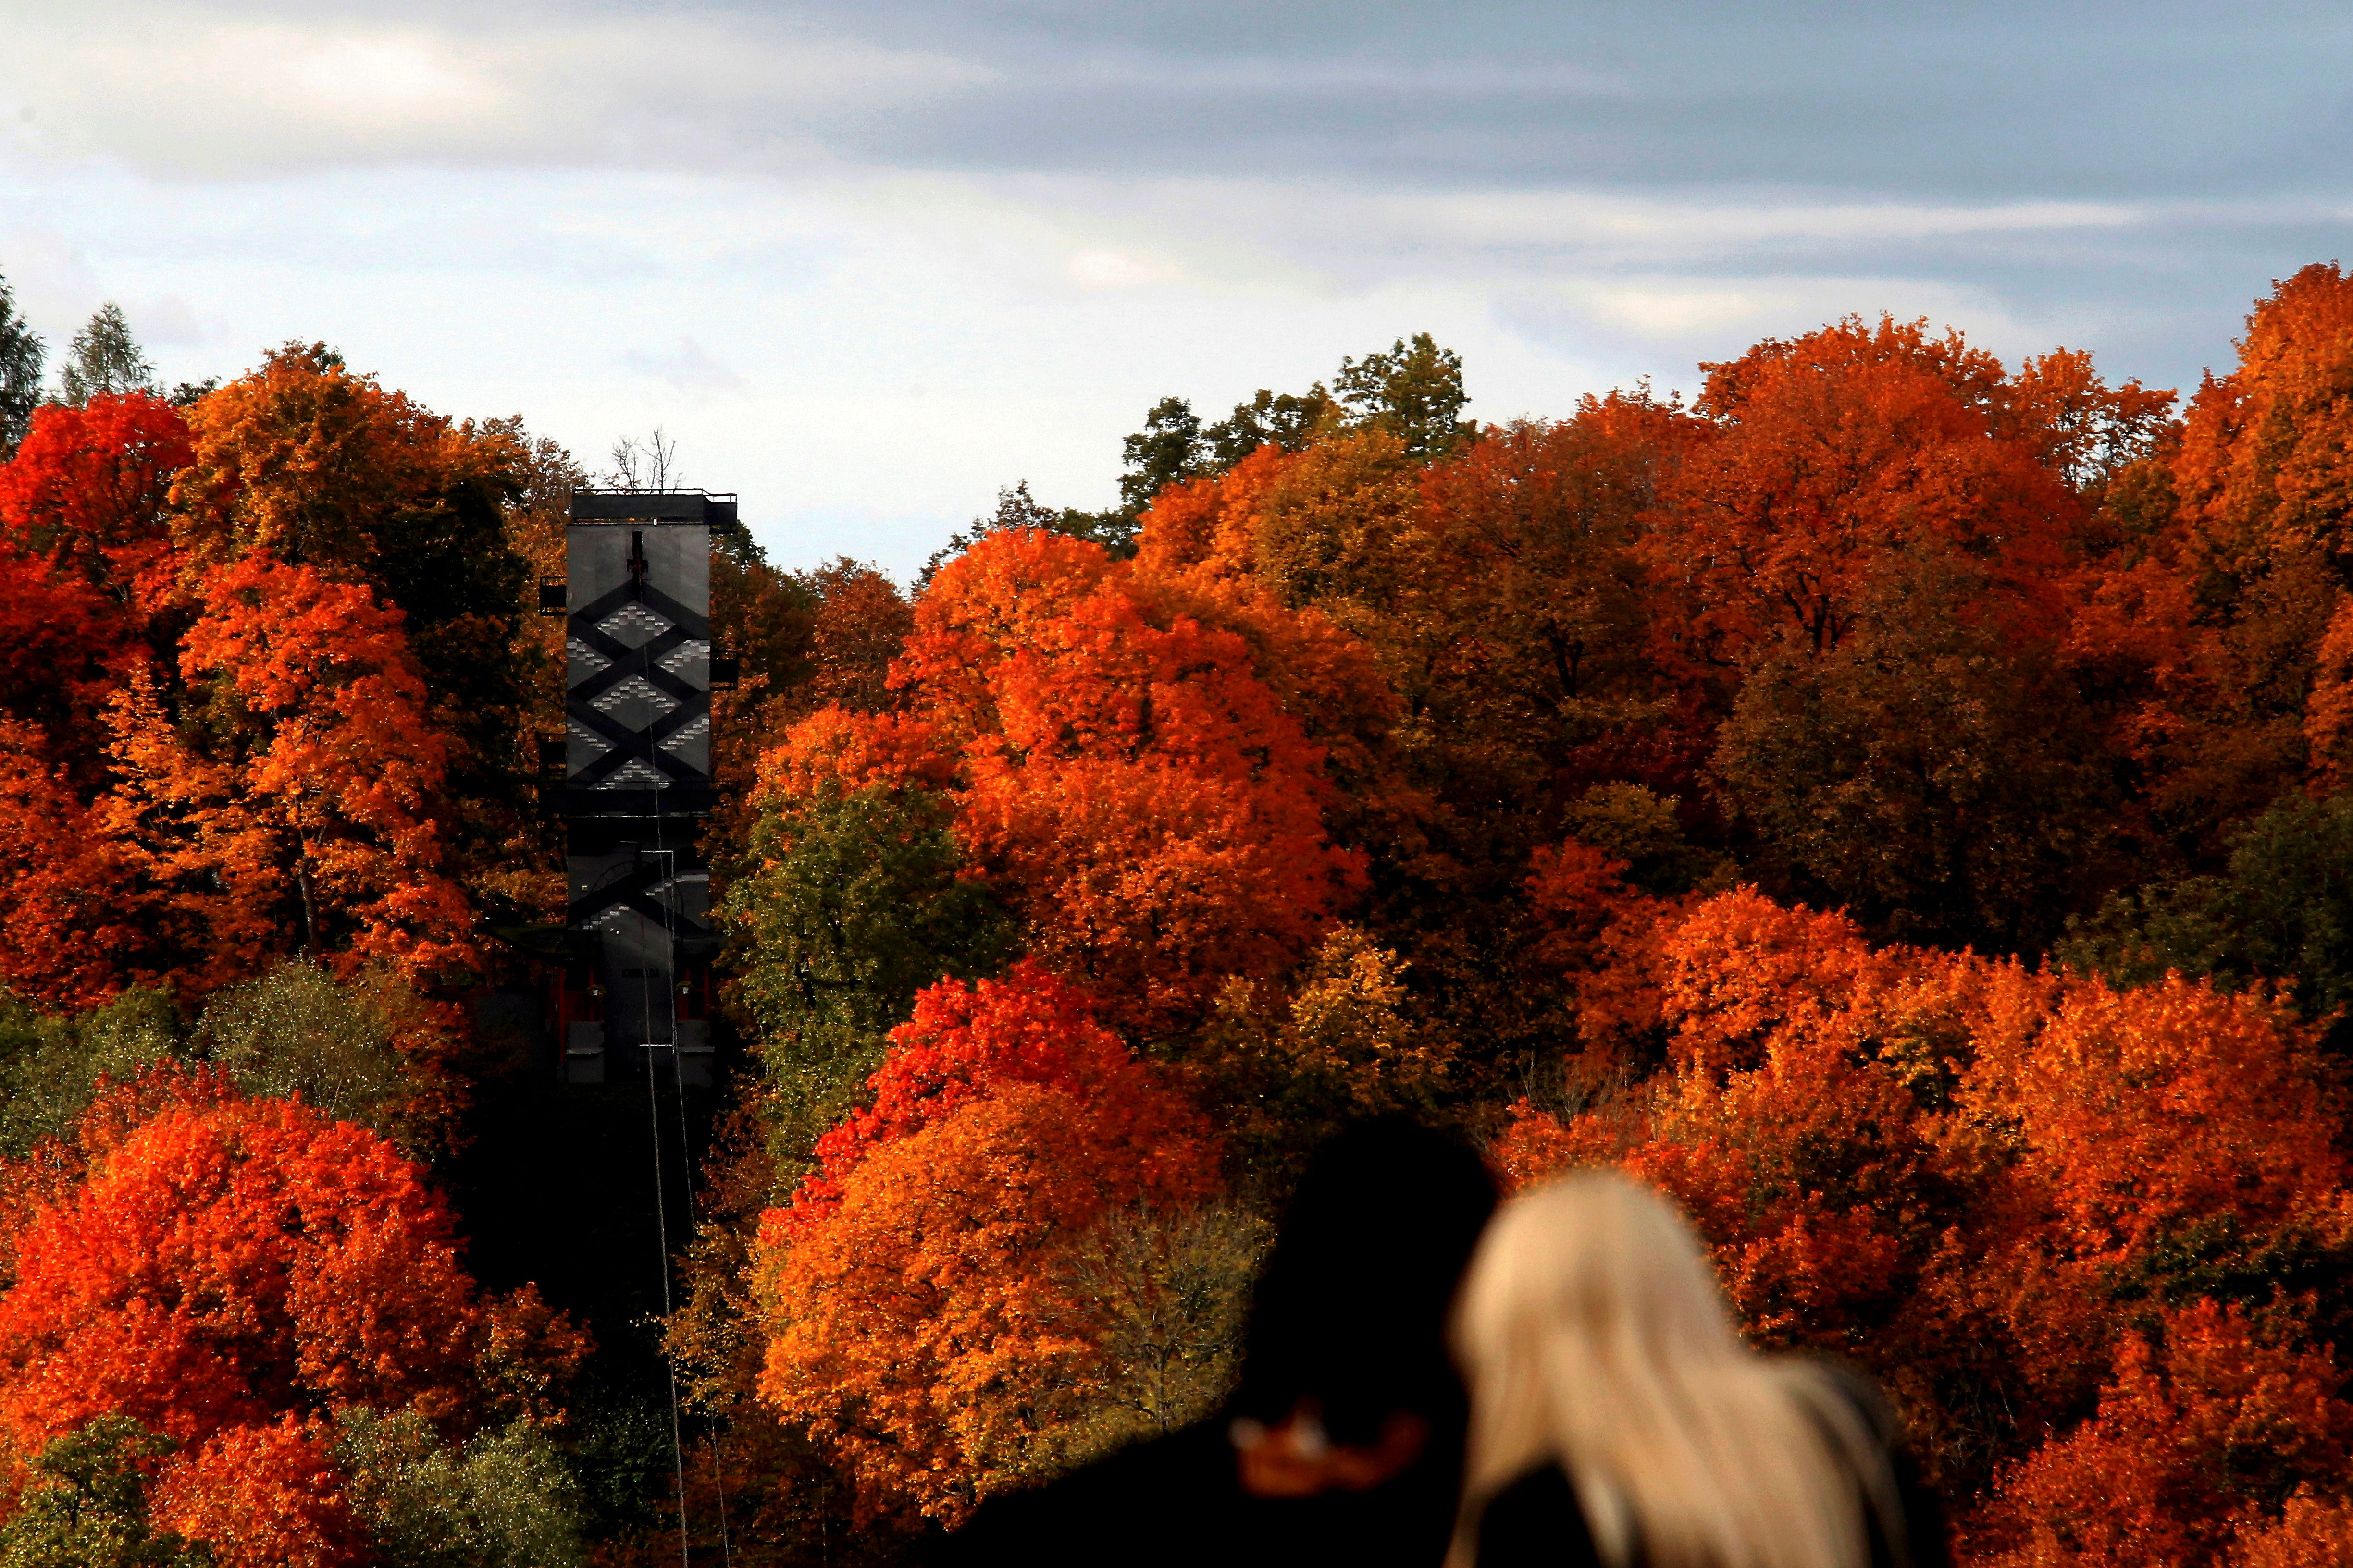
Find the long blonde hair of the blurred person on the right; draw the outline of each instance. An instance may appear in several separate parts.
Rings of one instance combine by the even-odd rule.
[[[1457,1302],[1466,1568],[1485,1505],[1567,1472],[1612,1568],[1864,1568],[1885,1446],[1826,1373],[1751,1352],[1682,1213],[1617,1173],[1506,1204]],[[1889,1547],[1901,1559],[1901,1530]]]

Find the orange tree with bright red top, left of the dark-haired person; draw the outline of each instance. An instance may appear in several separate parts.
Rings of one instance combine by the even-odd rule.
[[[1217,1140],[1031,966],[927,992],[873,1088],[760,1222],[760,1394],[842,1455],[864,1512],[955,1523],[1038,1472],[1056,1396],[1094,1375],[1056,1251],[1209,1197]]]

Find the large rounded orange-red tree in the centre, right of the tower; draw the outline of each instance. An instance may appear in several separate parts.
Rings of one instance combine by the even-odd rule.
[[[899,715],[805,719],[774,785],[944,783],[1031,954],[1122,1023],[1167,1032],[1224,976],[1282,971],[1362,886],[1325,830],[1325,748],[1249,639],[1099,545],[984,536],[918,602],[892,684]]]

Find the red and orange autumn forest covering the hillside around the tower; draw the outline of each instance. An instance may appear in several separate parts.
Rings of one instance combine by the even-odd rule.
[[[2353,275],[2179,390],[1725,353],[1167,397],[908,583],[715,538],[647,1147],[546,1067],[534,611],[661,437],[45,383],[0,292],[0,1568],[911,1561],[1212,1410],[1372,1112],[1671,1192],[1965,1563],[2353,1563]]]

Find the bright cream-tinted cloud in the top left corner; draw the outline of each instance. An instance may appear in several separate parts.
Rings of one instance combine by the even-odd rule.
[[[5,12],[14,63],[0,63],[0,96],[21,106],[24,155],[198,179],[400,162],[807,167],[861,115],[988,78],[922,49],[694,9]]]

